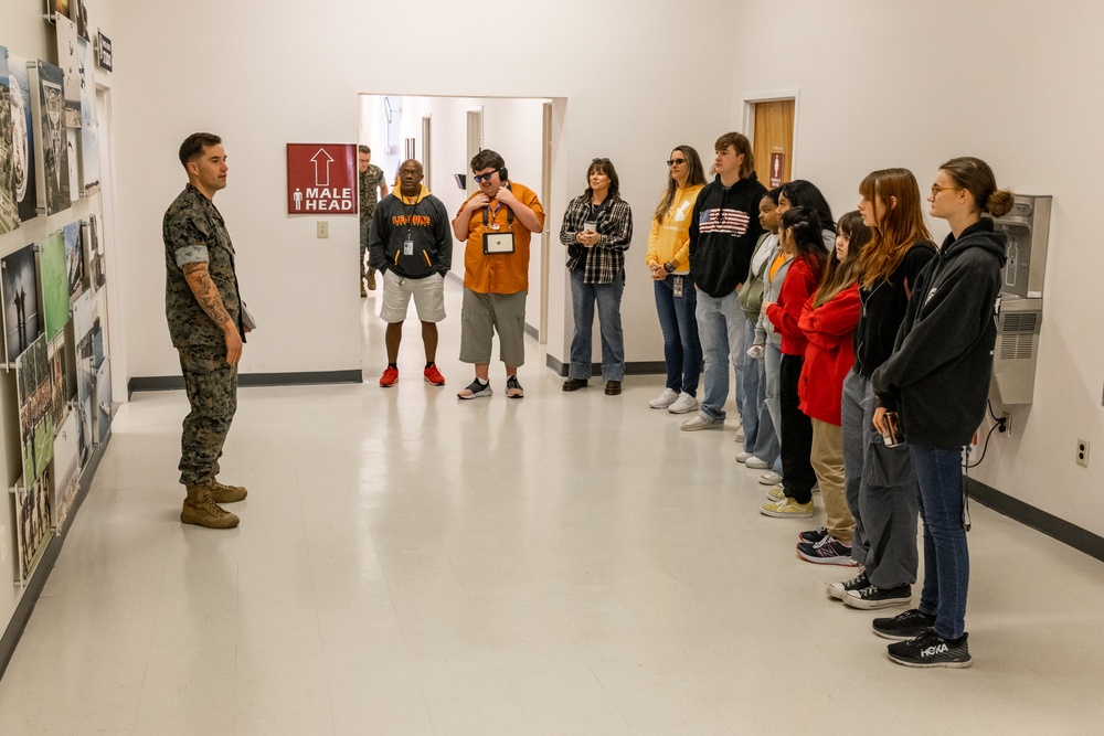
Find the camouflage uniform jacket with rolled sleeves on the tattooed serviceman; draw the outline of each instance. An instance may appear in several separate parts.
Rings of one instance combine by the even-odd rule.
[[[222,329],[206,316],[184,279],[183,266],[194,263],[208,264],[222,303],[244,340],[234,246],[214,202],[188,184],[166,211],[161,235],[164,239],[164,314],[173,346],[216,348],[226,343]]]

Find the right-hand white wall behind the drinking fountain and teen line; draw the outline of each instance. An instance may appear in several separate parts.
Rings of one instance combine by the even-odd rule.
[[[926,188],[962,154],[1015,191],[1054,196],[1036,401],[1013,407],[1012,436],[995,436],[973,476],[1104,534],[1104,95],[1086,84],[1104,67],[1104,7],[795,0],[784,23],[764,3],[742,3],[741,17],[753,31],[733,46],[732,117],[745,96],[799,87],[794,175],[837,213],[873,169],[907,167]],[[1101,448],[1089,469],[1074,463],[1079,437]]]

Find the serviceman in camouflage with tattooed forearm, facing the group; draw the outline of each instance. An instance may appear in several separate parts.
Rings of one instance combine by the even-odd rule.
[[[189,183],[162,222],[164,313],[191,407],[180,440],[180,482],[188,489],[181,521],[224,529],[236,525],[237,516],[216,503],[240,501],[246,494],[244,488],[215,479],[237,409],[237,361],[246,329],[234,246],[211,199],[225,186],[225,154],[221,145],[206,143],[184,161],[185,147],[194,137],[181,146]]]

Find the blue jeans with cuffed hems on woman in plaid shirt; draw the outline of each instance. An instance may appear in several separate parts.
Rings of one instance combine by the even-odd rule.
[[[614,276],[612,284],[583,284],[582,269],[571,271],[571,311],[575,317],[575,334],[571,339],[569,377],[581,381],[591,377],[591,332],[594,305],[597,303],[602,332],[602,380],[625,378],[625,334],[620,324],[620,298],[624,292],[624,270]]]

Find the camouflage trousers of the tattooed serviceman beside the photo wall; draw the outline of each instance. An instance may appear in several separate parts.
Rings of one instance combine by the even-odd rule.
[[[180,436],[180,482],[197,486],[219,472],[222,447],[237,410],[237,366],[226,363],[225,345],[178,351],[192,409]]]

